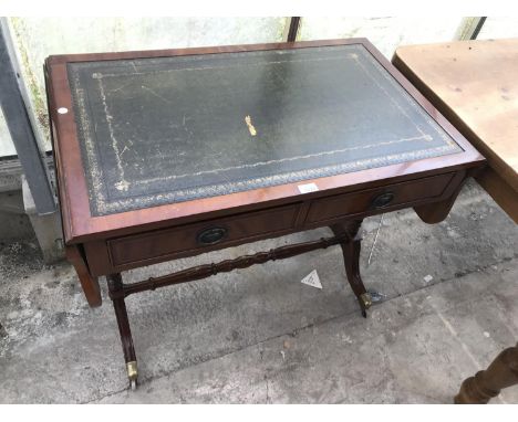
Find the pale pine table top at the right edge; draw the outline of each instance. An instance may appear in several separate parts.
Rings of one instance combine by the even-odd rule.
[[[401,46],[393,63],[518,194],[518,39]]]

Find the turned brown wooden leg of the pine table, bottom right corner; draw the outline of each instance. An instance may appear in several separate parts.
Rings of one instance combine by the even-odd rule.
[[[505,349],[485,371],[464,380],[456,404],[485,404],[500,390],[518,383],[518,344]]]

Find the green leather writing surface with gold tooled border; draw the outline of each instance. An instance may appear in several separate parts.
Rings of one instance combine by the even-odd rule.
[[[68,68],[93,215],[462,151],[361,44]]]

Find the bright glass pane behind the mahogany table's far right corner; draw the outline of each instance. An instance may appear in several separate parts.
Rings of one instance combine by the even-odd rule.
[[[426,18],[302,18],[300,40],[367,38],[387,59],[400,44],[450,41],[462,17]]]

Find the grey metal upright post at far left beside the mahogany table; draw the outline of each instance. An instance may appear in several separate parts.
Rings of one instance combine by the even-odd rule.
[[[20,71],[4,18],[0,20],[0,105],[35,209],[40,215],[53,213],[56,211],[54,189],[45,155],[31,123],[27,92],[20,81]]]

